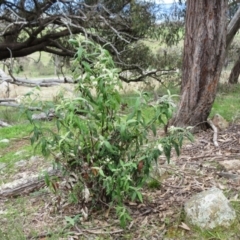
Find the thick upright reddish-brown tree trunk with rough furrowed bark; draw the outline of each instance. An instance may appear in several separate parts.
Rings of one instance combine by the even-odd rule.
[[[206,127],[226,48],[227,0],[188,0],[181,98],[169,125]]]

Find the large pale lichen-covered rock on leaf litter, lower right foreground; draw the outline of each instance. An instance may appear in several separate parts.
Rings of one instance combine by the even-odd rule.
[[[236,218],[236,212],[218,188],[196,194],[185,203],[184,210],[186,218],[203,229],[228,227]]]

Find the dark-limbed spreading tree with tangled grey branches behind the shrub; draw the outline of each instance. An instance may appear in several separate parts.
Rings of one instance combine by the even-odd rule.
[[[181,9],[172,12],[176,16],[172,18],[174,22],[156,24],[157,19],[169,17],[161,15],[160,8],[155,1],[144,0],[104,0],[101,3],[94,0],[3,0],[0,2],[0,60],[36,51],[73,57],[75,52],[67,40],[70,35],[82,34],[104,46],[123,72],[131,71],[134,77],[126,79],[122,74],[123,81],[141,81],[149,76],[159,80],[161,75],[157,73],[164,70],[163,66],[156,64],[155,56],[139,40],[157,37],[173,44],[180,40],[178,30],[183,27],[179,20]]]

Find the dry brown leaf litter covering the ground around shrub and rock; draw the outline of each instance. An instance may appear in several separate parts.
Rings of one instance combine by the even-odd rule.
[[[12,214],[14,220],[21,223],[26,239],[47,239],[56,233],[62,234],[58,239],[96,239],[99,236],[107,239],[167,239],[166,234],[172,228],[188,234],[191,227],[184,222],[182,214],[184,202],[192,195],[218,187],[230,194],[230,200],[239,201],[240,168],[227,170],[221,162],[240,162],[240,125],[219,132],[219,147],[214,146],[212,136],[211,130],[196,134],[193,143],[184,144],[179,157],[172,153],[170,164],[163,157],[159,159],[158,171],[152,179],[160,185],[156,189],[147,186],[143,189],[143,203],[125,203],[132,217],[126,229],[119,228],[119,221],[111,208],[91,210],[86,221],[76,218],[71,225],[66,219],[80,216],[81,206],[68,203],[54,209],[52,202],[56,195],[42,187],[15,198],[0,195],[2,231],[11,224],[5,215]],[[31,164],[18,167],[18,175],[16,171],[12,176],[3,173],[0,181],[6,177],[9,181],[16,180],[24,176],[24,171],[26,174],[37,172],[49,164],[37,158]]]

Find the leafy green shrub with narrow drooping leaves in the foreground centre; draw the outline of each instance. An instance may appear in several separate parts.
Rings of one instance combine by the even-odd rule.
[[[76,97],[62,98],[56,105],[57,131],[32,121],[31,140],[44,156],[60,153],[55,161],[65,172],[78,176],[76,196],[87,189],[90,203],[116,206],[124,226],[130,219],[124,200],[143,201],[140,190],[152,162],[163,153],[169,160],[172,147],[179,153],[184,136],[190,135],[178,129],[156,139],[157,127],[172,116],[172,96],[149,106],[148,95],[140,92],[133,108],[124,113],[119,70],[109,52],[84,39],[71,43],[77,49],[73,65]],[[144,116],[146,107],[152,108],[150,119]]]

